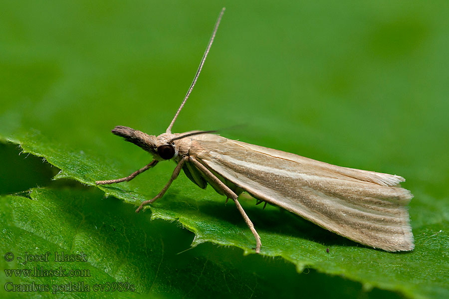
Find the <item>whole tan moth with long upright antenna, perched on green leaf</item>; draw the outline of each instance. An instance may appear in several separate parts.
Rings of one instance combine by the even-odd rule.
[[[172,127],[189,98],[217,33],[221,11],[195,78],[170,123],[159,136],[117,126],[112,133],[150,152],[153,160],[127,177],[96,181],[112,184],[130,181],[163,160],[177,165],[170,180],[154,198],[161,198],[181,170],[200,188],[209,184],[231,198],[254,235],[255,252],[261,242],[253,223],[238,201],[246,191],[259,202],[295,213],[331,232],[363,245],[386,251],[414,249],[407,205],[413,195],[399,184],[399,175],[340,167],[293,153],[269,149],[212,134],[215,131],[172,133]]]

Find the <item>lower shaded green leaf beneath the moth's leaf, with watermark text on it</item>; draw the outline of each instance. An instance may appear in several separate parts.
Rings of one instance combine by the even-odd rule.
[[[215,246],[189,250],[192,234],[187,230],[150,221],[149,215],[137,217],[130,205],[115,198],[102,200],[101,192],[92,188],[40,188],[27,194],[2,196],[0,201],[0,251],[5,257],[0,262],[2,298],[204,298],[204,294],[214,298],[297,298],[300,292],[327,298],[342,287],[353,297],[360,292],[355,283],[329,280],[316,273],[298,282],[293,267],[279,260],[251,259]],[[11,257],[6,253],[13,255],[12,261],[6,261]],[[56,255],[62,253],[79,255],[85,261],[56,261]],[[59,269],[67,276],[35,276]],[[31,276],[18,275],[27,270]],[[323,279],[333,283],[317,290],[314,282]],[[33,284],[35,288],[47,286],[48,291],[5,291]],[[121,284],[122,289],[95,289],[102,285],[113,288],[114,284]],[[388,296],[385,292],[371,294]]]

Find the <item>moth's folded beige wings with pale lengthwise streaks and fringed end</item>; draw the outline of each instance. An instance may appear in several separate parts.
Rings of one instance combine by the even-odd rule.
[[[206,136],[207,135],[207,136]],[[224,137],[195,137],[192,153],[255,198],[329,231],[387,251],[413,250],[407,204],[396,175],[331,165]]]

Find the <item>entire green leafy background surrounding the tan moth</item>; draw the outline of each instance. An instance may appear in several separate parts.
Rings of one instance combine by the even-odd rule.
[[[88,252],[95,272],[86,283],[137,286],[117,297],[449,297],[446,1],[0,3],[0,191],[33,188],[1,199],[1,256]],[[250,254],[254,241],[234,205],[184,174],[152,213],[134,214],[173,163],[102,187],[106,198],[93,186],[151,160],[110,130],[165,132],[223,6],[173,132],[223,129],[228,138],[402,175],[415,195],[414,252],[365,248],[248,199],[242,205],[263,245]],[[0,292],[10,280],[1,273]],[[56,296],[89,295],[111,294]]]

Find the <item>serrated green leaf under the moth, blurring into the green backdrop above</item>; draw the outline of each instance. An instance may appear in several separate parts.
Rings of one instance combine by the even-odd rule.
[[[242,205],[262,237],[262,254],[298,271],[308,267],[410,298],[448,297],[447,7],[244,3],[226,5],[174,129],[247,123],[222,135],[403,175],[415,194],[412,253],[364,248],[275,207]],[[61,169],[58,178],[88,185],[151,160],[108,132],[116,125],[165,131],[221,8],[145,1],[3,6],[0,138],[45,157]],[[160,163],[101,189],[132,208],[157,194],[173,168]],[[223,203],[181,175],[151,207],[152,218],[179,219],[196,233],[194,245],[210,241],[251,253],[251,233],[233,204]]]

